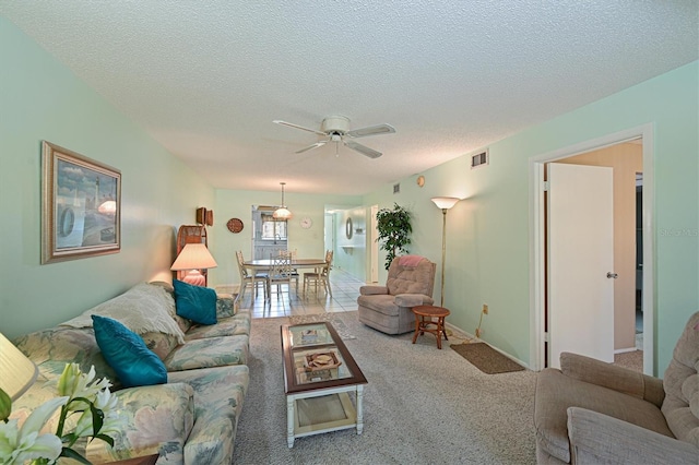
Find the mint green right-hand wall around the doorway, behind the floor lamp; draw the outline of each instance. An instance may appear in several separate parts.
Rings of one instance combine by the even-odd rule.
[[[699,309],[699,65],[672,72],[557,117],[489,146],[490,165],[469,168],[463,156],[365,196],[364,204],[413,212],[411,252],[438,263],[441,213],[431,196],[464,200],[449,211],[445,306],[449,320],[474,333],[483,303],[484,339],[530,362],[529,159],[555,150],[640,127],[654,126],[655,335],[664,372],[687,318]],[[386,279],[382,267],[379,281]]]

